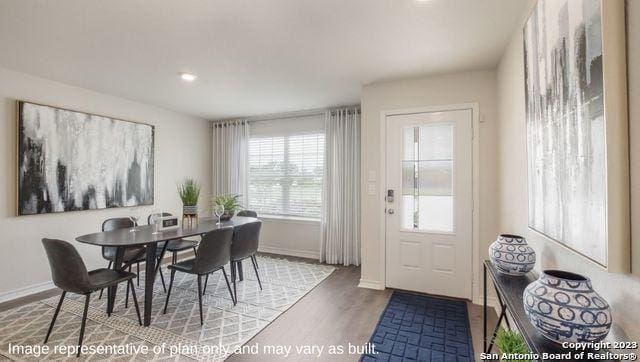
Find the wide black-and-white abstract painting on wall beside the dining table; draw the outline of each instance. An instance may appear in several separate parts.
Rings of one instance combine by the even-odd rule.
[[[153,126],[18,102],[18,214],[153,204]]]

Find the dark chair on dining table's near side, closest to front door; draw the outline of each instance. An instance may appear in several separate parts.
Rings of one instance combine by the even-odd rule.
[[[262,282],[258,275],[258,260],[256,253],[258,252],[258,243],[260,242],[260,229],[262,221],[254,221],[235,227],[233,232],[233,241],[231,242],[231,280],[233,282],[233,294],[238,298],[236,292],[236,274],[238,264],[244,259],[251,258],[253,271],[256,273],[258,285],[262,290]]]

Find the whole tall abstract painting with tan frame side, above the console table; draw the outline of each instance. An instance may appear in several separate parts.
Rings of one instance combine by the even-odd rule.
[[[523,36],[529,227],[628,271],[624,1],[539,0]]]

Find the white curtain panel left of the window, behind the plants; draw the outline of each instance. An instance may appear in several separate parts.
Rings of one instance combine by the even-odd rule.
[[[246,206],[248,165],[249,122],[213,122],[213,196],[239,194]]]

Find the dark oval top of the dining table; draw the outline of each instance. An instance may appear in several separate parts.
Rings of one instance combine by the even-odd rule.
[[[177,229],[159,233],[155,233],[155,227],[153,225],[142,225],[137,226],[135,228],[135,232],[131,232],[130,228],[118,229],[78,236],[76,240],[81,243],[99,246],[146,245],[161,241],[198,236],[222,227],[237,226],[257,220],[258,219],[253,217],[234,216],[231,220],[222,221],[221,225],[217,225],[217,219],[209,217],[198,219],[198,223],[191,227],[180,226]]]

